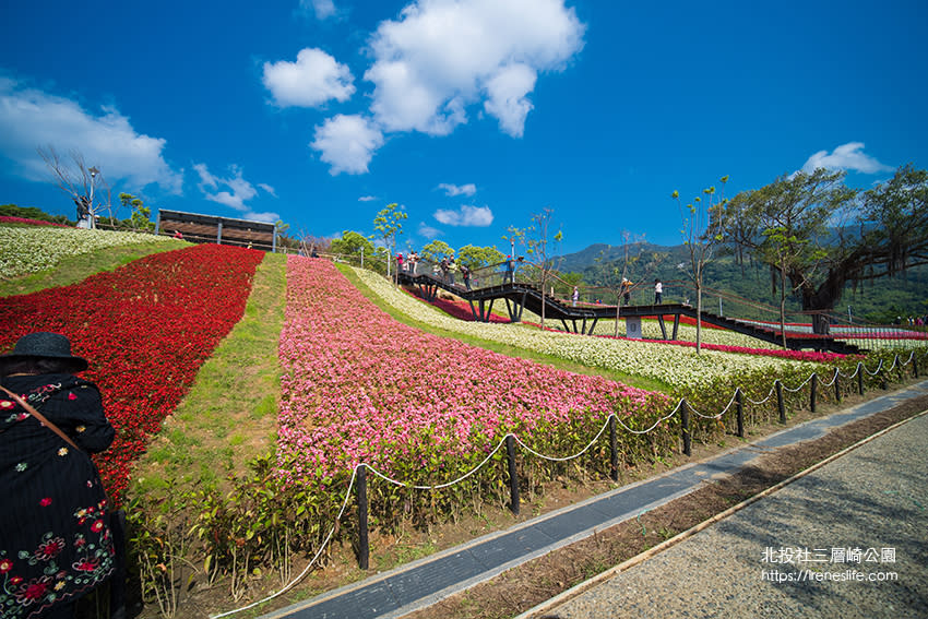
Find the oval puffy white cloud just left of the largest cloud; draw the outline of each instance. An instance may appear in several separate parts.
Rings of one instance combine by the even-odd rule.
[[[279,107],[317,107],[329,99],[346,102],[355,93],[347,64],[314,48],[301,49],[296,62],[265,62],[262,81]]]

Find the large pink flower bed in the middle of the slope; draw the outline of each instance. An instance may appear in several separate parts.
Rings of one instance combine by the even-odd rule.
[[[290,257],[281,334],[278,473],[321,479],[480,459],[508,432],[596,431],[661,393],[438,337],[394,321],[328,261]],[[590,440],[592,435],[578,437]]]

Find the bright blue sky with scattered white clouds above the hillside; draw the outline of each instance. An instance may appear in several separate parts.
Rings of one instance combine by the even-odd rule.
[[[928,167],[926,110],[924,0],[0,3],[0,203],[72,218],[37,146],[295,234],[676,245],[674,190]]]

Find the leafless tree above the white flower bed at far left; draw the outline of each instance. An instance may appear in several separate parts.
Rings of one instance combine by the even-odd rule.
[[[112,218],[112,190],[96,166],[87,167],[80,151],[71,151],[70,160],[62,160],[51,145],[36,151],[51,172],[51,182],[76,204],[79,227],[95,228],[103,211],[109,211]]]

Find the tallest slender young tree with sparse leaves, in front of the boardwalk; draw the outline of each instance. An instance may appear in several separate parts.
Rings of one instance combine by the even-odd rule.
[[[728,177],[723,176],[721,182],[724,189]],[[683,224],[680,234],[689,252],[690,270],[687,274],[697,293],[697,354],[702,352],[702,288],[705,267],[715,258],[715,250],[724,239],[725,225],[730,219],[726,210],[728,201],[722,197],[724,191],[716,193],[715,187],[710,187],[703,189],[702,193],[705,199],[698,195],[686,209],[680,206],[680,192],[674,190],[671,194],[680,207]]]

